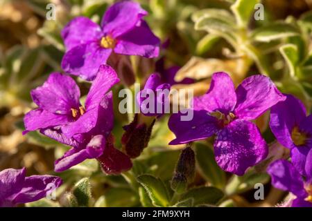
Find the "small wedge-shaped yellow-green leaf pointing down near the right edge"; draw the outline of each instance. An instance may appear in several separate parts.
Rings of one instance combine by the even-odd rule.
[[[294,44],[286,44],[279,48],[289,69],[291,77],[296,75],[296,66],[299,61],[298,48]]]

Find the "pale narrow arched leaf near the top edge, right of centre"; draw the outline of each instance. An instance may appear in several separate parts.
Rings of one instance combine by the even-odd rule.
[[[207,8],[203,10],[198,10],[197,12],[193,13],[191,19],[194,22],[197,22],[204,17],[215,17],[215,18],[222,19],[223,21],[229,21],[229,22],[234,21],[234,17],[233,15],[231,15],[229,11],[224,10],[224,9],[217,9],[217,8]]]

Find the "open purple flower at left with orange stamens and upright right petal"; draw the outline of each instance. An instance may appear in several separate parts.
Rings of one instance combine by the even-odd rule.
[[[106,93],[117,82],[119,79],[114,70],[110,66],[101,66],[87,94],[85,106],[82,106],[76,82],[67,75],[51,74],[43,86],[31,91],[38,108],[25,115],[24,133],[54,128],[62,131],[67,138],[75,136],[75,139],[80,139],[80,134],[92,131],[101,119],[113,117],[105,115],[108,97],[112,97],[110,93]],[[107,131],[105,124],[102,128]]]

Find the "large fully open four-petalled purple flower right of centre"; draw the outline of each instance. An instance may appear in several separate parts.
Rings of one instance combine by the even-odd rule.
[[[193,99],[193,119],[182,121],[181,113],[171,115],[168,126],[176,138],[170,144],[216,134],[216,162],[225,171],[243,175],[268,155],[266,142],[250,120],[284,99],[266,76],[248,77],[235,90],[227,73],[214,73],[208,92]]]

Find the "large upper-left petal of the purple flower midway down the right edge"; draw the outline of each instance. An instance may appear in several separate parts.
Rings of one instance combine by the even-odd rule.
[[[295,126],[299,126],[302,119],[306,117],[306,109],[300,99],[293,95],[286,95],[284,102],[272,106],[270,115],[270,128],[279,143],[286,148],[293,148],[291,132]]]

